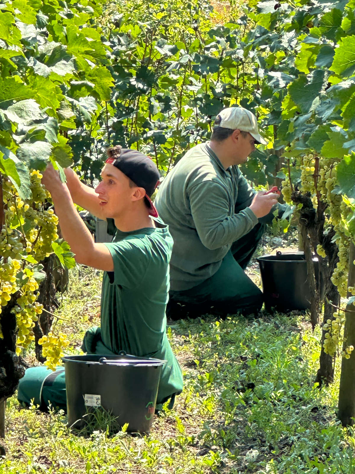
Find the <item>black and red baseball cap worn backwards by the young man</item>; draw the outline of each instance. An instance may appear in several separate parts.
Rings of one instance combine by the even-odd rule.
[[[145,189],[149,213],[153,217],[158,217],[158,211],[151,201],[151,195],[160,184],[160,173],[151,158],[137,150],[121,148],[119,145],[109,148],[107,154],[106,163],[113,164],[139,188]]]

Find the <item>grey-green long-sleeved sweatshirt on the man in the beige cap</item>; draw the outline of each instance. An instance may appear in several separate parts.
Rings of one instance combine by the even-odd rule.
[[[171,290],[193,288],[219,269],[232,243],[258,222],[248,207],[254,193],[237,166],[223,168],[209,142],[168,173],[154,204],[174,240]]]

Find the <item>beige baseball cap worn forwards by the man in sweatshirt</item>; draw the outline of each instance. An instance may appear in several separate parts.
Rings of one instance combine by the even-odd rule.
[[[243,107],[229,107],[228,109],[223,109],[216,118],[219,117],[221,118],[221,123],[217,127],[231,128],[232,130],[238,128],[242,132],[249,132],[258,143],[267,144],[257,129],[257,118],[250,110]]]

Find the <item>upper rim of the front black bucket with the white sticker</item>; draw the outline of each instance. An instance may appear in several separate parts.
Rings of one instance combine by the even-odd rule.
[[[98,360],[85,360],[84,357],[96,356]],[[102,360],[105,359],[105,360]],[[93,364],[93,365],[115,365],[115,366],[129,366],[129,367],[158,367],[164,365],[167,361],[162,359],[155,359],[153,357],[138,357],[130,354],[122,355],[100,355],[100,354],[87,354],[87,355],[71,355],[63,356],[62,361],[75,362],[77,364]]]

